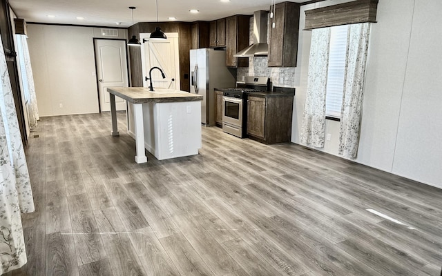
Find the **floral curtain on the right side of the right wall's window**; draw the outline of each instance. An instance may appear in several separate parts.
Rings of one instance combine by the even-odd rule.
[[[370,23],[349,25],[338,153],[352,159],[358,154],[369,30]]]

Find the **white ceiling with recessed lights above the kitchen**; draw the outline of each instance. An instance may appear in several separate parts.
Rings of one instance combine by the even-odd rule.
[[[294,0],[302,3],[308,0]],[[282,2],[282,1],[277,1]],[[10,6],[28,22],[62,23],[74,25],[92,25],[127,28],[134,23],[156,21],[155,0],[9,0]],[[253,14],[255,10],[269,10],[271,0],[158,0],[159,21],[210,21],[233,14]],[[189,10],[200,10],[191,14]],[[48,15],[55,15],[49,18]],[[77,17],[84,17],[83,20]],[[117,22],[121,25],[117,26]]]

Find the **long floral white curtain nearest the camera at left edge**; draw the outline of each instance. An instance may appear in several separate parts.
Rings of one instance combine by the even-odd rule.
[[[0,274],[26,264],[20,213],[34,211],[28,166],[0,37]]]

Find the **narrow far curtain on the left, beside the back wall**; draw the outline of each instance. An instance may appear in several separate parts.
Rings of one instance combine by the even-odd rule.
[[[31,128],[37,128],[37,121],[40,119],[40,117],[39,109],[37,107],[37,96],[35,95],[34,77],[32,75],[32,68],[30,66],[28,39],[26,39],[26,35],[24,34],[19,34],[17,36],[21,36],[21,49],[23,50],[23,61],[26,68],[26,82],[28,83],[27,89],[30,98],[30,102],[28,102],[29,124]]]

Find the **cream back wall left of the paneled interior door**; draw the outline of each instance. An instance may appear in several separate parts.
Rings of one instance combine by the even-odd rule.
[[[28,37],[40,117],[99,112],[93,37],[100,29],[28,24]]]

